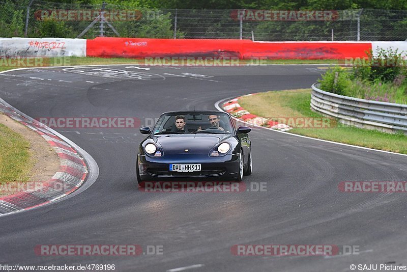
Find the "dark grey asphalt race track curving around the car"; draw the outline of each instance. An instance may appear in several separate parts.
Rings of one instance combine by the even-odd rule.
[[[144,125],[165,111],[214,110],[222,98],[310,88],[325,71],[149,68],[11,71],[0,75],[0,97],[33,118],[120,116]],[[406,195],[338,189],[341,181],[406,181],[405,156],[253,129],[254,173],[244,183],[266,182],[266,192],[146,193],[135,180],[136,148],[144,139],[138,128],[56,130],[92,155],[99,177],[74,197],[0,217],[0,264],[114,264],[115,271],[351,271],[351,264],[406,264]],[[163,254],[38,256],[34,248],[41,244],[139,244],[162,246]],[[359,255],[235,256],[235,244],[347,245],[359,247]]]

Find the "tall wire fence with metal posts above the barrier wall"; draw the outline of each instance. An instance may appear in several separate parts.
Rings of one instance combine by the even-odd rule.
[[[404,41],[407,11],[139,9],[0,0],[0,37]]]

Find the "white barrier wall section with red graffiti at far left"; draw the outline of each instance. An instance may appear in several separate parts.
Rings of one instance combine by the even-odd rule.
[[[85,39],[0,39],[0,57],[86,57]]]

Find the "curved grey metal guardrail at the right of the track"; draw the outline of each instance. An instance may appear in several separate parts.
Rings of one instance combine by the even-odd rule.
[[[338,95],[317,86],[311,86],[312,110],[346,125],[407,134],[407,105]]]

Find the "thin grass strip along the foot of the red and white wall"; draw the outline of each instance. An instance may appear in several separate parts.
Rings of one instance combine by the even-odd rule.
[[[16,68],[42,67],[42,66],[75,66],[75,65],[103,65],[103,64],[134,64],[144,65],[144,59],[128,59],[128,58],[94,58],[94,57],[65,57],[65,58],[44,58],[41,59],[43,65],[28,64],[27,61],[12,66],[15,61],[0,61],[0,71],[6,71]],[[150,61],[151,63],[151,61]],[[154,63],[154,62],[153,62]],[[156,62],[157,63],[157,62]],[[180,62],[181,63],[181,62]],[[199,62],[197,62],[199,64]],[[223,62],[221,62],[223,64]],[[230,63],[230,62],[229,62]],[[264,64],[337,64],[338,60],[240,60],[239,65],[264,65]],[[147,62],[149,64],[149,62]],[[209,62],[211,65],[211,62]],[[225,62],[225,66],[228,62]],[[236,62],[235,65],[237,66]]]

